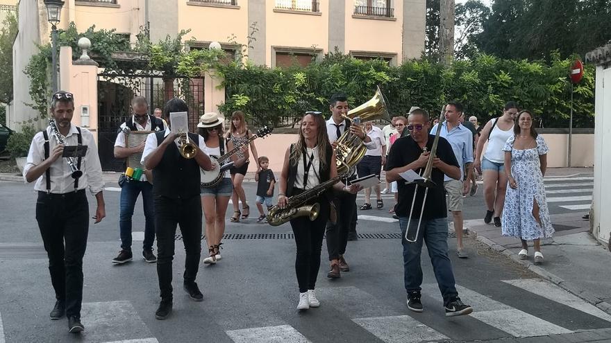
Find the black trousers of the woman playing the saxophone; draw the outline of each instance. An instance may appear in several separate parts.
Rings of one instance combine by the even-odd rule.
[[[316,286],[325,224],[329,218],[328,200],[325,197],[319,197],[315,202],[320,204],[320,212],[316,220],[312,222],[308,217],[291,220],[297,246],[295,272],[300,293],[313,290]]]

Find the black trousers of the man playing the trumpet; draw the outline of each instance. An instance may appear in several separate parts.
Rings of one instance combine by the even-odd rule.
[[[157,234],[157,276],[161,299],[172,299],[172,261],[174,236],[180,225],[185,245],[185,274],[183,281],[195,281],[201,257],[201,197],[171,199],[155,195],[155,232]]]

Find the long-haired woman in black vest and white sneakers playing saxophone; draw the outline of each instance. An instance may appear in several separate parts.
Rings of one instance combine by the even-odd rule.
[[[280,180],[278,182],[278,207],[290,206],[293,195],[324,184],[337,178],[335,153],[327,136],[326,123],[320,112],[305,112],[297,141],[287,148]],[[339,181],[339,178],[337,178]],[[342,182],[333,184],[338,191],[357,193],[360,186],[344,186]],[[312,197],[308,204],[319,203],[319,213],[315,220],[298,216],[290,220],[295,236],[297,254],[295,272],[299,284],[299,304],[297,310],[318,307],[314,288],[320,267],[322,239],[329,218],[330,195],[328,192]]]

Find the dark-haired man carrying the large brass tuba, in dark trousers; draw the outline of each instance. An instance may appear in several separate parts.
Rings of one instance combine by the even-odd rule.
[[[371,137],[365,134],[362,127],[344,116],[349,111],[348,96],[346,94],[333,94],[329,100],[329,110],[331,118],[326,122],[327,134],[333,149],[337,146],[339,139],[346,130],[350,130],[359,139],[355,140],[355,144],[365,143],[367,149],[375,149],[376,143],[371,141]],[[347,181],[356,178],[356,173],[346,177]],[[346,180],[344,180],[344,184]],[[335,193],[333,199],[335,211],[337,211],[337,221],[329,220],[326,227],[327,251],[329,254],[330,268],[327,277],[337,279],[342,272],[349,272],[350,267],[346,263],[344,253],[348,245],[349,236],[353,235],[352,240],[356,238],[356,194],[340,192]]]

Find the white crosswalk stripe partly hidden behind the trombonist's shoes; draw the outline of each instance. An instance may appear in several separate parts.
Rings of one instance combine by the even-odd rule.
[[[438,294],[439,288],[435,283],[422,285],[428,294]],[[494,326],[501,331],[505,331],[514,337],[533,337],[544,335],[557,335],[562,333],[573,333],[573,331],[558,326],[556,324],[539,319],[524,311],[512,308],[499,301],[479,294],[469,288],[456,285],[461,299],[473,307],[474,317],[489,326]],[[436,298],[435,298],[436,299]],[[437,300],[436,301],[440,301]]]

